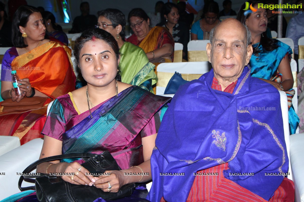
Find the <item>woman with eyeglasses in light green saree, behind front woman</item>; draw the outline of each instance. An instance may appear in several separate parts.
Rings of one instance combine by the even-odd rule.
[[[154,67],[143,49],[125,41],[126,19],[123,12],[115,8],[108,8],[97,13],[96,28],[109,32],[118,42],[121,54],[119,68],[122,82],[138,85],[153,92],[152,85],[156,84],[157,76]]]

